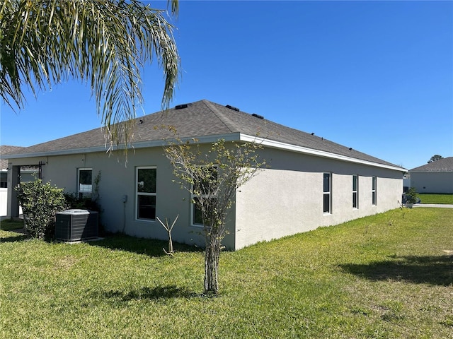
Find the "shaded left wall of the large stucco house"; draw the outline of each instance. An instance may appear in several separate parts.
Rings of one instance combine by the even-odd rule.
[[[101,173],[98,185],[99,203],[102,208],[101,223],[109,232],[125,232],[134,237],[168,239],[168,233],[157,220],[137,220],[137,167],[156,168],[156,216],[170,223],[175,242],[204,245],[202,227],[191,225],[190,194],[173,182],[173,168],[164,157],[162,148],[130,150],[127,165],[122,154],[85,153],[77,155],[49,156],[13,160],[13,165],[44,162],[42,179],[67,193],[77,191],[78,169],[92,169],[93,178]],[[127,201],[124,197],[127,196]],[[234,218],[229,218],[230,224]],[[231,225],[229,225],[230,227]],[[232,227],[231,227],[232,230]],[[234,249],[234,232],[230,232],[224,244]]]

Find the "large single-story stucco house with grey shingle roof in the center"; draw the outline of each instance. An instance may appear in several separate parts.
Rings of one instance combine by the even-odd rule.
[[[174,126],[180,138],[196,137],[202,148],[219,138],[262,141],[260,157],[270,168],[262,169],[236,192],[227,218],[227,249],[337,225],[401,204],[406,169],[207,100],[136,119],[127,166],[119,155],[105,153],[103,131],[94,129],[8,155],[9,170],[40,163],[45,182],[78,194],[89,194],[93,178],[100,173],[99,203],[107,230],[167,239],[156,216],[174,220],[179,215],[173,239],[202,245],[202,225],[194,218],[190,194],[173,182],[176,177],[162,150],[174,135],[156,129],[162,125]],[[9,194],[9,210],[15,215],[16,198]]]

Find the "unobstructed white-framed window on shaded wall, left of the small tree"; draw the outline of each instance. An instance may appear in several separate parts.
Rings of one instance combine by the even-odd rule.
[[[135,218],[139,220],[156,220],[156,167],[137,167]]]

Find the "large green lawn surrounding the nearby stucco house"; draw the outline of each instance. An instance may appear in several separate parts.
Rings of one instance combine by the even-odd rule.
[[[224,252],[0,231],[1,338],[452,338],[453,210],[398,209]]]

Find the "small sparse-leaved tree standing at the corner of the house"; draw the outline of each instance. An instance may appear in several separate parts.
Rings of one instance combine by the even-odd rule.
[[[196,139],[164,147],[178,183],[193,196],[205,236],[205,293],[219,293],[219,256],[226,235],[226,215],[236,190],[258,174],[264,160],[260,143],[212,143],[206,152]]]

